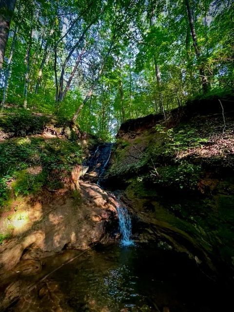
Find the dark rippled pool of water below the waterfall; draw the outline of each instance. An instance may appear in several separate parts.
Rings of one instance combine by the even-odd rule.
[[[62,266],[7,311],[225,312],[228,298],[186,255],[113,244]]]

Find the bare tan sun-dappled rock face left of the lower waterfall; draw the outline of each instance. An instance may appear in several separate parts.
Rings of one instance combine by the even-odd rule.
[[[73,193],[69,194],[66,197],[56,196],[49,204],[32,204],[25,198],[25,204],[21,205],[17,214],[27,213],[27,223],[17,231],[14,230],[13,237],[0,246],[3,272],[14,268],[21,257],[39,258],[45,252],[59,252],[64,246],[87,249],[90,244],[106,243],[113,239],[110,234],[112,228],[107,224],[115,220],[114,196],[103,191],[97,184],[83,181],[79,182],[78,202],[73,198]],[[31,269],[19,268],[17,271],[24,274],[30,270],[38,272],[40,269],[37,265],[38,263],[33,265],[32,262],[29,265]]]

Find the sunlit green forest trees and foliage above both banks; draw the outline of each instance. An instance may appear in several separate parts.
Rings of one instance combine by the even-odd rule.
[[[128,118],[166,118],[190,98],[233,92],[233,17],[233,0],[1,0],[1,107],[66,117],[103,139]]]

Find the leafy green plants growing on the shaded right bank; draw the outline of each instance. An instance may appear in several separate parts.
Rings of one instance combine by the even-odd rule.
[[[145,153],[144,161],[147,163],[151,160],[153,165],[147,178],[159,185],[194,191],[202,175],[201,164],[180,158],[179,154],[202,146],[208,142],[208,138],[188,125],[166,129],[158,124],[155,130],[161,140],[153,140]]]

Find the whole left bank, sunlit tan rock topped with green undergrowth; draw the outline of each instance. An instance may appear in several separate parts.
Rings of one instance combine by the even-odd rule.
[[[25,117],[26,115],[26,117]],[[40,259],[65,248],[107,242],[115,199],[89,180],[82,162],[95,137],[29,112],[1,119],[0,267]],[[4,134],[4,135],[3,135]],[[105,161],[106,162],[106,161]],[[9,272],[8,272],[9,273]]]

